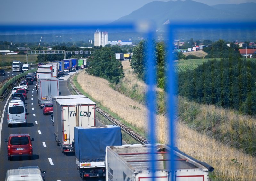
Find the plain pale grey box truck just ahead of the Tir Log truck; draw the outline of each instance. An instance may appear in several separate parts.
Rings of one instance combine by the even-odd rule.
[[[53,96],[59,96],[59,80],[56,77],[37,78],[38,105],[43,102],[51,102]]]

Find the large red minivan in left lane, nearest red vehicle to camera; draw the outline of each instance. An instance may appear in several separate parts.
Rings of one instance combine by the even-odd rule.
[[[10,134],[8,140],[8,160],[14,156],[28,156],[29,159],[33,156],[32,142],[34,138],[30,138],[28,133]]]

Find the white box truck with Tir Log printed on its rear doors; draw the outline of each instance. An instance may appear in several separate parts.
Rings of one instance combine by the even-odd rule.
[[[74,127],[95,126],[96,104],[83,95],[55,96],[54,136],[62,153],[74,152]]]

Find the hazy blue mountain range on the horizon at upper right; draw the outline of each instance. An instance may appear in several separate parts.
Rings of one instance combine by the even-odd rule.
[[[172,22],[251,22],[255,21],[256,3],[218,4],[185,1],[153,1],[114,21],[113,24],[150,20],[157,26]]]

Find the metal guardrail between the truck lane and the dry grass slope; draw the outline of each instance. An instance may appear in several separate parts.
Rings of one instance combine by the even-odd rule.
[[[69,82],[72,86],[72,88],[74,89],[74,91],[77,94],[82,94],[75,86],[73,83],[72,78],[69,78]],[[112,122],[113,124],[121,127],[121,129],[129,134],[130,136],[132,136],[136,141],[140,142],[141,144],[149,144],[149,141],[144,138],[143,136],[141,136],[140,134],[134,132],[131,128],[127,127],[126,125],[124,125],[123,123],[121,123],[119,120],[113,118],[112,116],[108,115],[108,113],[106,113],[104,110],[100,109],[97,105],[96,105],[96,111],[99,112],[102,116],[104,116],[106,119],[108,119],[110,122]]]

